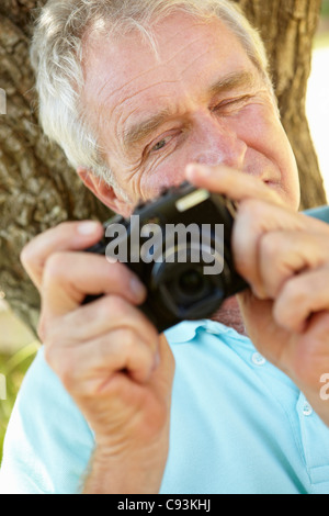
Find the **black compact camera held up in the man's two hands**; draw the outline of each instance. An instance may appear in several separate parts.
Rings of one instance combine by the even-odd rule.
[[[224,195],[184,182],[140,203],[128,220],[107,221],[102,240],[87,250],[125,262],[140,278],[148,292],[140,310],[161,333],[208,318],[248,287],[234,267],[235,213]]]

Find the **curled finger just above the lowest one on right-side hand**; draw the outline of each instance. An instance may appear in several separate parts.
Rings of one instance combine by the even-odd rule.
[[[324,235],[296,231],[264,234],[258,261],[265,295],[275,299],[290,278],[321,267],[328,260],[329,240]]]

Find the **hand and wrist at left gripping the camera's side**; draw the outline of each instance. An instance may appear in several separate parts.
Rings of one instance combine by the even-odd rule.
[[[22,262],[39,290],[45,357],[95,436],[86,492],[158,492],[168,455],[174,361],[138,310],[146,291],[123,263],[82,253],[98,223],[37,236]],[[103,294],[81,305],[86,295]]]

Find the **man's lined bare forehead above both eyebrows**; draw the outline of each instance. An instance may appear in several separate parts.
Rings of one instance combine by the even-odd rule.
[[[157,53],[134,31],[113,41],[93,32],[84,42],[83,100],[98,117],[167,108],[181,93],[198,94],[223,75],[254,67],[218,19],[175,12],[152,27]],[[202,74],[201,74],[202,71]],[[114,116],[114,117],[115,117]]]

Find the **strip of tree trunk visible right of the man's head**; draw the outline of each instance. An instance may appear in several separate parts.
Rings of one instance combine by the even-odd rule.
[[[283,126],[302,184],[302,206],[326,204],[322,177],[306,119],[307,80],[321,0],[236,0],[259,27],[270,56]]]

